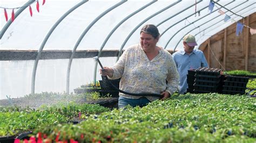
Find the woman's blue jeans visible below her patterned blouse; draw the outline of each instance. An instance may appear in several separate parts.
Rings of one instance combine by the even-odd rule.
[[[148,103],[150,103],[151,101],[149,99],[147,99],[146,97],[141,97],[139,99],[130,99],[130,98],[125,98],[120,96],[118,98],[118,108],[124,108],[127,105],[131,105],[133,107],[135,106],[146,106]]]

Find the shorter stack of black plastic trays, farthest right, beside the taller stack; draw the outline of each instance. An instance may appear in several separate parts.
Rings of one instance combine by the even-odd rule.
[[[231,95],[244,95],[248,80],[248,77],[226,75],[222,93]]]

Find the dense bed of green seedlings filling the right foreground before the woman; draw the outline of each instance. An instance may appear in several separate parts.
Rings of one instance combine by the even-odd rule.
[[[255,98],[186,94],[37,132],[52,140],[59,133],[60,140],[79,142],[255,142],[255,117]]]

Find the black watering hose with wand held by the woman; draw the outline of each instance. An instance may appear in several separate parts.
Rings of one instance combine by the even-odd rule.
[[[99,57],[98,57],[98,56],[95,56],[93,59],[95,59],[95,61],[98,61],[100,68],[102,68],[102,71],[104,71],[104,68],[103,68],[103,66],[102,66],[102,63],[99,61]],[[109,81],[109,78],[107,78],[107,76],[104,76],[104,78],[102,78],[102,80],[107,81],[108,83],[110,83],[110,84],[112,85],[112,87],[113,87],[114,89],[116,89],[117,91],[119,91],[119,92],[121,92],[121,93],[123,93],[123,94],[133,95],[133,96],[157,96],[157,97],[163,98],[163,95],[160,95],[160,94],[147,94],[147,93],[134,94],[134,93],[130,93],[130,92],[126,92],[126,91],[120,90],[120,89],[117,88],[113,83],[111,83],[111,82]]]

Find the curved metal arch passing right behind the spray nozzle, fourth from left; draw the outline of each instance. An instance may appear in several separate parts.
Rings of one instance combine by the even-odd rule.
[[[130,17],[132,17],[133,15],[135,15],[136,13],[142,11],[143,9],[147,8],[147,6],[150,6],[151,4],[157,2],[157,0],[153,0],[152,2],[144,5],[142,8],[132,12],[129,16],[125,17],[123,20],[121,20],[112,30],[111,32],[107,35],[107,37],[105,38],[102,46],[100,46],[99,49],[99,53],[98,53],[98,57],[100,57],[100,54],[102,53],[102,49],[104,48],[107,40],[109,40],[109,38],[111,37],[111,35],[114,33],[114,31],[117,30],[117,28],[122,25],[127,19],[129,19]],[[97,73],[97,66],[98,66],[98,61],[95,62],[95,68],[94,68],[94,73],[93,73],[93,81],[96,83],[96,73]]]

